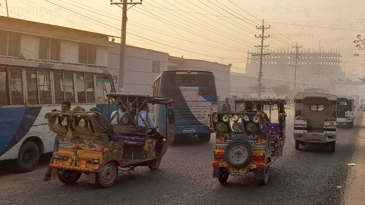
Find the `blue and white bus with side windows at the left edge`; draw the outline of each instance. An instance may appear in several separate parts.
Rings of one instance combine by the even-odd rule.
[[[56,134],[47,125],[47,112],[68,100],[71,109],[98,107],[107,118],[106,94],[114,90],[106,70],[1,59],[0,160],[13,159],[19,171],[31,171],[40,153],[53,150]]]

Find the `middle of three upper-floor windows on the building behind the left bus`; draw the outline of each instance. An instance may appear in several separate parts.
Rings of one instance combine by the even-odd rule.
[[[49,38],[39,38],[39,58],[43,60],[59,61],[60,41]]]

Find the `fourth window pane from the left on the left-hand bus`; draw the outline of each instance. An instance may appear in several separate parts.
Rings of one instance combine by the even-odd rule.
[[[49,71],[38,71],[39,104],[51,104]]]

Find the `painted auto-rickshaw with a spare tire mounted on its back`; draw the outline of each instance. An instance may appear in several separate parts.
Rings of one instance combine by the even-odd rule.
[[[268,183],[270,165],[283,155],[285,103],[282,99],[236,99],[235,111],[210,114],[210,127],[216,134],[213,177],[226,183],[229,175],[253,172],[263,185]],[[237,112],[240,104],[244,110]],[[271,122],[272,112],[278,116],[276,123]]]

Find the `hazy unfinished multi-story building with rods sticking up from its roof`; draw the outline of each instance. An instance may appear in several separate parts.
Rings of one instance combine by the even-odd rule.
[[[293,86],[295,72],[295,55],[292,53],[270,53],[263,57],[262,71],[264,79],[282,79]],[[345,71],[340,66],[341,55],[337,53],[301,53],[297,59],[296,82],[300,88],[319,87],[330,89],[331,79],[345,79]],[[246,64],[246,75],[257,77],[260,58],[249,57]],[[318,74],[319,73],[319,74]],[[318,83],[319,76],[319,83]]]

